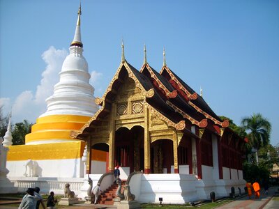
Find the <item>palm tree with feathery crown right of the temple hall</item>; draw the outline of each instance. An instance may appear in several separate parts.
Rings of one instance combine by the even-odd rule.
[[[259,148],[269,144],[271,132],[271,123],[262,116],[262,114],[253,114],[250,117],[243,118],[241,125],[248,133],[248,139],[253,148],[255,148],[256,161],[259,162],[257,152]]]

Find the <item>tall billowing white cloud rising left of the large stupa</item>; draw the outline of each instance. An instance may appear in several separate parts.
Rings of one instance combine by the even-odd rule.
[[[23,91],[17,96],[12,108],[12,119],[14,123],[27,119],[30,123],[35,123],[36,118],[47,110],[45,99],[53,93],[53,86],[59,82],[59,72],[64,59],[67,56],[66,49],[55,49],[50,47],[42,54],[42,59],[47,64],[42,73],[42,79],[37,86],[36,93],[32,91]],[[9,98],[0,98],[0,105],[4,105],[3,114],[8,113]]]

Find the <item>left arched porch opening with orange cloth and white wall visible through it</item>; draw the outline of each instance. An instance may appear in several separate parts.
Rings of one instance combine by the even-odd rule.
[[[109,146],[98,143],[91,146],[91,174],[103,174],[108,171]]]

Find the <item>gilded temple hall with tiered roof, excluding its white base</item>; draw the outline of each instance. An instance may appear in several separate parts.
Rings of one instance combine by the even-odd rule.
[[[220,179],[224,173],[242,178],[245,141],[167,67],[165,52],[159,73],[146,62],[146,54],[142,68],[136,70],[123,51],[112,82],[96,103],[100,109],[71,136],[86,141],[89,156],[102,151],[106,171],[119,165],[127,175],[144,171],[202,178],[213,167]],[[236,173],[230,173],[231,169]],[[96,170],[91,160],[86,170]]]

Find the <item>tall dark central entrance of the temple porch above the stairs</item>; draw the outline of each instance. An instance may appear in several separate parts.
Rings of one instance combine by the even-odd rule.
[[[119,165],[128,175],[144,170],[144,128],[134,126],[131,130],[121,127],[115,133],[114,167]]]

